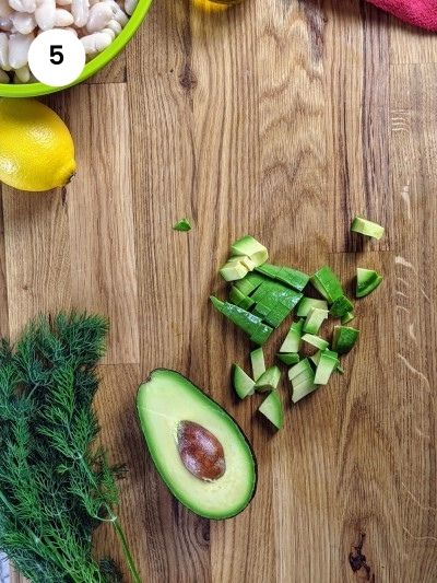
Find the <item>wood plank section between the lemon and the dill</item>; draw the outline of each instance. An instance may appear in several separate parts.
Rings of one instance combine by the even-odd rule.
[[[68,310],[71,298],[67,209],[60,190],[2,187],[9,327],[15,338],[40,312]]]

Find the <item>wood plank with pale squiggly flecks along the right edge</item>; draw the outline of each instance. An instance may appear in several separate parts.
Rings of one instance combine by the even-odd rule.
[[[397,66],[391,72],[392,191],[397,200],[395,378],[402,456],[403,578],[430,583],[437,568],[436,324],[434,260],[437,211],[437,67]],[[405,163],[405,161],[408,161]]]

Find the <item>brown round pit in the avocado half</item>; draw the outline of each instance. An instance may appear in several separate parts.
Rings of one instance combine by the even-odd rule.
[[[184,466],[204,481],[214,481],[226,471],[225,453],[217,438],[193,421],[180,421],[177,447]]]

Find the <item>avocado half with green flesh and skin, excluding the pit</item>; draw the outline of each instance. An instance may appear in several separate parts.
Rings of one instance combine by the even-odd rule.
[[[137,410],[156,469],[179,502],[214,520],[235,516],[249,504],[257,460],[238,423],[217,403],[180,373],[156,369],[138,390]],[[217,479],[201,479],[182,463],[180,428],[187,422],[204,428],[223,447],[225,469]]]

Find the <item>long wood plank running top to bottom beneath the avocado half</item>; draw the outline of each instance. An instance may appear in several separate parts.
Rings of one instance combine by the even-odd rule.
[[[131,143],[137,153],[133,199],[144,375],[155,366],[188,373],[190,362],[198,365],[194,347],[204,346],[203,339],[196,337],[200,326],[192,313],[197,284],[191,278],[200,264],[191,258],[198,244],[198,217],[192,202],[191,92],[196,80],[190,69],[189,16],[188,2],[154,3],[147,26],[132,40],[128,61]],[[184,215],[193,220],[194,230],[189,234],[172,230]],[[209,522],[178,505],[155,473],[150,475],[147,488],[145,581],[209,581]]]

